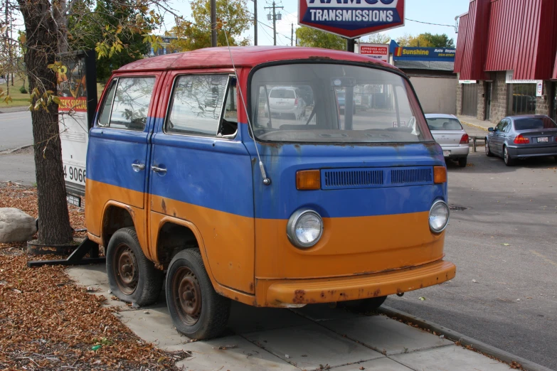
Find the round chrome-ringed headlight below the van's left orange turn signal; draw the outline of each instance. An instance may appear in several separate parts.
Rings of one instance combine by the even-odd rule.
[[[313,210],[297,210],[286,226],[286,234],[292,244],[307,249],[317,244],[323,234],[323,220]]]

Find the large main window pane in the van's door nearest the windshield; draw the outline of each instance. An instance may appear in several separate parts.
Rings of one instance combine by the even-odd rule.
[[[216,136],[227,83],[228,75],[178,77],[166,119],[166,132]]]

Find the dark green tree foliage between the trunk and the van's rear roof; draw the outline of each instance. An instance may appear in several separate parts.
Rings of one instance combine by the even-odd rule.
[[[84,10],[76,14],[84,14]],[[70,18],[68,41],[73,50],[97,50],[101,57],[97,60],[97,81],[106,82],[113,70],[149,52],[143,35],[152,31],[157,21],[147,6],[137,6],[133,0],[97,0],[92,12]]]

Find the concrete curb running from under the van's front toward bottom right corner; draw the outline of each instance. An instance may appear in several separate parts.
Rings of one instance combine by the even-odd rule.
[[[454,330],[450,330],[443,326],[437,325],[437,323],[425,321],[422,318],[412,316],[411,314],[405,313],[403,311],[398,311],[397,309],[391,308],[390,306],[380,306],[378,308],[378,312],[383,313],[388,317],[396,317],[403,319],[404,321],[415,323],[420,328],[425,328],[426,330],[435,331],[436,333],[445,335],[446,339],[455,342],[458,341],[461,345],[470,346],[473,350],[477,350],[486,355],[491,355],[492,357],[495,357],[498,360],[502,360],[509,365],[511,365],[513,362],[519,363],[526,371],[553,371],[548,367],[538,365],[537,363],[531,362],[522,357],[518,357],[499,348],[495,348],[492,345],[487,345],[486,343],[482,343],[479,340],[475,340],[473,338],[470,338],[469,336],[462,335],[462,333],[457,333]]]

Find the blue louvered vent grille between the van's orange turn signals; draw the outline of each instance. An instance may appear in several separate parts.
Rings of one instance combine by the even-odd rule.
[[[354,189],[433,184],[433,167],[343,168],[321,171],[321,188]]]

